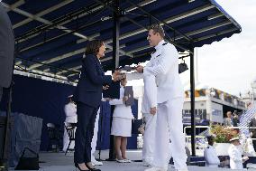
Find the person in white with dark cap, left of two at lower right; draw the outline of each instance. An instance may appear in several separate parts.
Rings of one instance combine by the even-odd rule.
[[[211,135],[207,137],[208,147],[204,151],[204,157],[206,158],[206,166],[218,167],[220,165],[220,159],[217,156],[215,144],[215,136]]]

